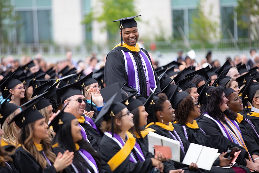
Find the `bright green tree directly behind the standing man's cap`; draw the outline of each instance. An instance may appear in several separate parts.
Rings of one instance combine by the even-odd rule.
[[[136,15],[134,0],[99,0],[99,2],[101,7],[94,9],[102,9],[102,12],[92,9],[83,19],[83,24],[91,24],[93,20],[104,22],[105,26],[101,31],[108,31],[109,34],[113,35],[118,34],[119,23],[111,21]]]

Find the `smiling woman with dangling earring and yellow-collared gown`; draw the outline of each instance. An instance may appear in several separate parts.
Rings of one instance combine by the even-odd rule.
[[[174,98],[180,98],[180,96],[186,96],[188,93],[182,91],[182,92],[176,92],[176,95],[173,96]],[[154,112],[155,112],[155,119],[153,117],[148,117],[149,123],[146,125],[145,128],[151,128],[154,129],[155,133],[165,136],[167,138],[176,140],[180,142],[180,161],[184,159],[185,153],[187,152],[187,149],[190,145],[190,142],[185,139],[184,134],[182,133],[180,127],[177,125],[173,125],[172,122],[175,119],[174,111],[175,109],[172,107],[172,104],[167,99],[167,96],[165,93],[160,93],[157,95],[158,98],[154,99]],[[180,101],[180,100],[179,100]],[[184,165],[180,162],[175,162],[175,168],[176,169],[182,169],[186,172],[203,172],[200,170],[195,163],[191,163],[190,166]]]

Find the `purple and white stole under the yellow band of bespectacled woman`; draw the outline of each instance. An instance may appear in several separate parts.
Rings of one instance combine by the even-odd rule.
[[[104,134],[106,136],[108,136],[109,138],[111,138],[113,141],[115,141],[119,145],[120,148],[123,148],[123,146],[125,145],[124,140],[117,133],[113,133],[113,137],[112,137],[111,132],[104,132]],[[128,139],[127,133],[126,133],[126,139]],[[135,143],[134,149],[136,151],[138,160],[145,161],[144,154],[143,154],[143,152],[142,152],[142,150],[141,150],[141,148],[140,148],[140,146],[137,142]],[[138,162],[136,157],[134,156],[134,154],[132,152],[130,153],[129,161],[132,162],[132,163]]]

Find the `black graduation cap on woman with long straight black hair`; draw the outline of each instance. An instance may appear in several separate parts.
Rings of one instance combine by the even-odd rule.
[[[65,105],[66,106],[66,105]],[[64,108],[65,108],[64,106]],[[50,122],[49,127],[52,126],[53,130],[57,133],[62,125],[71,123],[73,119],[76,119],[75,115],[64,112],[64,108],[60,113]]]

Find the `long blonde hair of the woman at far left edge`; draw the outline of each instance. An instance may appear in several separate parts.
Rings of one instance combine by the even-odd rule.
[[[10,114],[7,118],[9,120],[14,118],[14,113]],[[7,144],[16,146],[17,145],[17,134],[18,134],[18,129],[15,127],[15,122],[12,122],[11,124],[7,124],[7,119],[5,119],[3,126],[2,126],[3,131],[5,134],[3,134],[2,139],[5,141]]]

